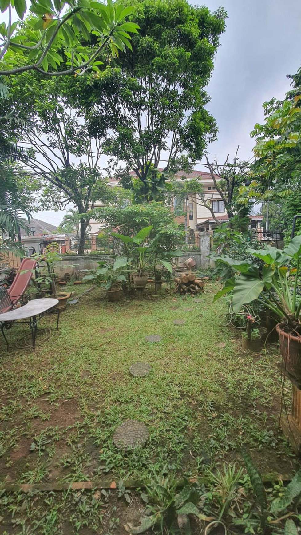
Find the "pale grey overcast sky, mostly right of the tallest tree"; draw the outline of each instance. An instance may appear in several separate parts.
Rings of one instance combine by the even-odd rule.
[[[228,18],[208,87],[208,106],[219,127],[218,140],[209,146],[210,159],[223,162],[252,156],[250,132],[263,122],[262,105],[272,97],[283,98],[289,90],[287,74],[301,65],[300,0],[207,0],[210,11],[220,5]],[[205,170],[202,166],[196,169]],[[38,217],[58,225],[64,212],[39,212]]]

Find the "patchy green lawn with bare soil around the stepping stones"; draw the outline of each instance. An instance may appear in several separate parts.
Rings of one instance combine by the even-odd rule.
[[[213,285],[206,291],[200,303],[165,290],[108,303],[96,289],[63,312],[59,333],[56,316],[40,320],[53,330],[48,339],[37,337],[35,351],[14,346],[27,326],[7,331],[11,349],[7,353],[3,344],[0,353],[2,481],[141,480],[166,470],[198,477],[209,465],[242,464],[242,445],[261,472],[294,472],[295,458],[278,427],[279,350],[242,351],[240,334],[225,325],[226,300],[213,303]],[[162,339],[146,342],[149,334]],[[148,377],[129,375],[138,361],[152,366]],[[144,448],[122,453],[112,436],[126,419],[144,422],[150,437]],[[51,493],[47,500],[61,507]],[[97,503],[92,510],[104,515],[105,504]],[[8,501],[4,508],[10,507]],[[94,525],[91,519],[89,528]],[[41,532],[57,532],[49,530]]]

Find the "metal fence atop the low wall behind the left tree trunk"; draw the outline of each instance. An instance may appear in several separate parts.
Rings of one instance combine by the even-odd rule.
[[[52,236],[49,240],[41,240],[41,252],[46,247],[49,248],[51,243],[56,243],[56,252],[65,254],[78,254],[80,239],[77,236],[65,236],[65,238],[56,238]],[[113,254],[114,244],[107,236],[98,238],[98,236],[90,236],[84,240],[84,254]]]

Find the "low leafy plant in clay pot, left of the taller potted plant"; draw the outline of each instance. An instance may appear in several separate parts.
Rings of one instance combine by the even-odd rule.
[[[100,261],[95,270],[88,270],[90,274],[86,275],[83,281],[89,280],[96,286],[105,288],[108,301],[120,301],[121,282],[126,281],[126,277],[120,270],[126,265],[127,258],[122,257],[116,258],[113,266],[105,261]]]

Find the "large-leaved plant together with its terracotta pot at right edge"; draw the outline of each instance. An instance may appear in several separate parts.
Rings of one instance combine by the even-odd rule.
[[[214,300],[233,291],[234,312],[240,311],[243,304],[257,299],[279,318],[276,330],[284,368],[301,388],[301,297],[298,286],[301,236],[295,236],[282,250],[267,246],[261,250],[249,249],[249,253],[264,262],[262,269],[248,261],[218,257],[221,262],[235,267],[238,274],[226,281]]]

